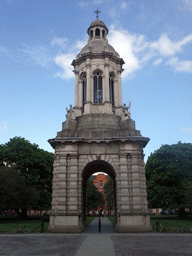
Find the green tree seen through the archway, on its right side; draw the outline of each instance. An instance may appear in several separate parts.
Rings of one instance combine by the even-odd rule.
[[[104,193],[107,201],[108,210],[113,210],[114,203],[115,203],[115,193],[114,193],[114,182],[111,177],[109,177],[109,180],[105,183]]]

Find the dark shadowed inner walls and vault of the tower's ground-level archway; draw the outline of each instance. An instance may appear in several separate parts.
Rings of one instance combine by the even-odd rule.
[[[95,160],[92,162],[89,162],[84,169],[82,170],[81,177],[82,177],[82,201],[81,201],[81,212],[82,212],[82,217],[80,219],[81,226],[85,228],[86,226],[86,187],[87,187],[87,180],[88,178],[94,174],[95,172],[105,172],[107,173],[114,182],[114,195],[115,195],[115,219],[116,217],[116,172],[113,166],[103,160]]]

